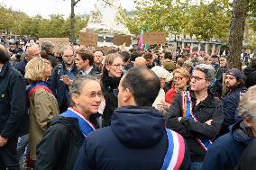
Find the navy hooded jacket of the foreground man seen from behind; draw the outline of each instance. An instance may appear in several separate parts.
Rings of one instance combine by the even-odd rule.
[[[120,107],[110,126],[87,136],[74,169],[160,169],[167,148],[165,118],[160,112],[152,107]],[[190,169],[187,149],[180,169]]]

